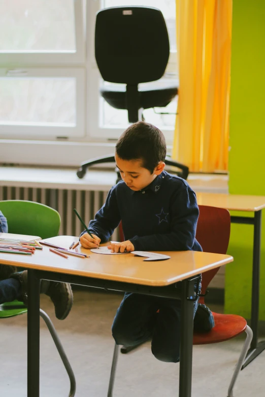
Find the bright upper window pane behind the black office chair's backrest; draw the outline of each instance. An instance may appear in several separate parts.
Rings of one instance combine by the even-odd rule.
[[[170,49],[176,51],[176,0],[105,0],[104,7],[146,6],[161,10],[170,38]]]

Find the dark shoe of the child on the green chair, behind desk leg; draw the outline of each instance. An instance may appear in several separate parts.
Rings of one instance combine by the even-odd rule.
[[[27,305],[27,271],[17,272],[10,275],[20,282],[21,301]],[[65,282],[41,281],[41,294],[46,294],[51,298],[55,315],[59,320],[63,320],[68,316],[73,306],[73,292],[71,285]]]

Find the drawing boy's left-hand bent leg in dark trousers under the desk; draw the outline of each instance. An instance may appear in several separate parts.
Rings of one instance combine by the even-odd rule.
[[[134,346],[151,338],[157,309],[155,297],[126,292],[112,324],[117,345]]]

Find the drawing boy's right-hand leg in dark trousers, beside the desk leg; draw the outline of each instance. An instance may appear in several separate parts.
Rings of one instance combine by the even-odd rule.
[[[197,301],[194,303],[194,315]],[[160,298],[153,338],[152,353],[165,363],[178,363],[180,357],[181,301]]]

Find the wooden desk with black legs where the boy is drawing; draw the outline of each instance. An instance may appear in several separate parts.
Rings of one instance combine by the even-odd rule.
[[[78,237],[59,236],[45,241],[68,248]],[[49,251],[36,250],[32,256],[0,254],[0,263],[28,269],[28,369],[27,396],[39,397],[40,381],[40,279],[136,292],[158,297],[180,299],[180,382],[179,397],[191,396],[193,300],[200,273],[233,261],[229,255],[208,252],[170,251],[171,259],[161,262],[143,262],[133,254],[98,255],[88,249],[90,258],[69,256],[62,258]],[[183,281],[177,283],[178,281]]]

